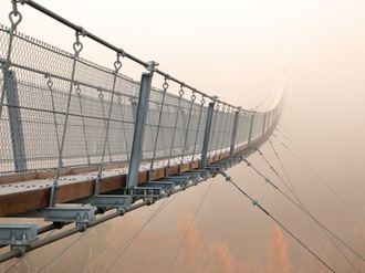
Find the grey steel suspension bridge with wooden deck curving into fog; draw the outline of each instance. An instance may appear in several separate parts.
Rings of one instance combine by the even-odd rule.
[[[10,27],[0,25],[0,217],[14,219],[0,224],[0,244],[10,246],[0,261],[217,175],[270,216],[226,170],[241,161],[251,166],[247,158],[261,154],[259,148],[272,136],[283,108],[284,75],[260,106],[243,109],[34,1],[21,3],[74,31],[73,52],[20,33],[17,2]],[[115,53],[111,67],[83,59],[86,39]],[[139,81],[125,75],[125,61],[139,65]],[[43,219],[44,225],[19,223],[19,218]],[[39,239],[71,223],[64,232]]]

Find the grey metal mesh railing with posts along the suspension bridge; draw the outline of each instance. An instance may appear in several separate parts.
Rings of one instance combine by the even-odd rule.
[[[19,33],[17,8],[10,28],[0,25],[0,177],[55,169],[56,181],[61,169],[76,166],[100,166],[101,174],[115,162],[136,170],[142,160],[152,169],[160,160],[206,160],[250,145],[279,118],[281,104],[265,113],[243,111],[24,2],[74,29],[76,38],[69,53]],[[86,38],[115,51],[111,67],[82,57]],[[147,69],[140,81],[121,73],[124,59]],[[155,77],[161,86],[153,87]]]

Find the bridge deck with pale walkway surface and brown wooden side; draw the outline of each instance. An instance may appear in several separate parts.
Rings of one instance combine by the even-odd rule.
[[[253,144],[253,143],[252,143]],[[251,144],[251,145],[252,145]],[[243,145],[236,149],[234,154],[248,148]],[[208,165],[229,157],[229,151],[208,157]],[[184,162],[180,167],[173,162],[166,168],[164,162],[150,171],[152,181],[167,176],[175,176],[191,169],[199,169],[200,159],[192,162]],[[127,178],[127,165],[105,166],[102,177],[100,193],[112,192],[125,188]],[[145,162],[139,168],[138,185],[148,181],[149,164]],[[61,174],[56,203],[72,202],[77,199],[93,196],[95,187],[96,168],[69,169]],[[22,212],[46,208],[49,206],[51,186],[54,172],[36,172],[25,176],[12,176],[0,178],[0,217],[15,216]],[[21,201],[20,201],[21,200]]]

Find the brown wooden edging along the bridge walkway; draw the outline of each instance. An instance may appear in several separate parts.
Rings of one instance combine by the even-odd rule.
[[[261,138],[254,139],[251,145],[254,145],[261,140]],[[247,149],[247,145],[242,145],[241,147],[238,147],[234,150],[234,154],[240,153],[244,149]],[[208,164],[211,164],[213,161],[218,161],[220,158],[227,158],[229,157],[229,153],[223,153],[219,157],[209,157]],[[195,160],[192,164],[192,169],[198,169],[200,166],[200,160]],[[109,168],[111,167],[111,168]],[[107,167],[106,169],[112,169],[112,166]],[[116,168],[125,168],[127,167],[125,164],[123,165],[114,165]],[[87,171],[86,171],[87,170]],[[190,170],[190,162],[184,164],[181,166],[181,171],[188,171]],[[71,202],[76,199],[86,198],[94,193],[94,186],[95,181],[94,179],[91,179],[92,176],[95,174],[90,174],[90,171],[97,171],[97,168],[91,167],[91,168],[77,168],[77,169],[66,169],[62,170],[61,174],[63,177],[60,180],[60,188],[58,191],[56,202],[63,203],[63,202]],[[79,174],[85,174],[88,172],[87,176],[84,176],[82,180],[75,179],[73,182],[73,179],[67,179],[66,176],[70,174],[79,175]],[[167,170],[168,176],[174,176],[179,172],[179,168],[177,165],[170,166]],[[125,187],[126,183],[126,175],[115,171],[116,175],[107,174],[106,177],[103,177],[102,183],[101,183],[101,193],[114,191],[117,189],[122,189]],[[158,180],[164,178],[166,175],[166,168],[158,168],[152,171],[150,174],[150,180]],[[1,181],[10,181],[9,183],[12,183],[13,181],[19,181],[19,179],[30,180],[30,179],[44,179],[44,178],[52,178],[54,176],[54,171],[50,172],[38,172],[24,175],[24,176],[15,176],[14,177],[7,177],[1,178]],[[63,183],[62,183],[63,181]],[[138,185],[147,182],[148,181],[148,171],[144,170],[139,172],[138,176]],[[36,183],[36,181],[31,181],[32,183]],[[52,181],[50,181],[51,183]],[[28,190],[28,191],[21,191],[21,192],[10,192],[10,193],[3,193],[0,195],[0,217],[7,217],[7,216],[13,216],[21,212],[38,210],[42,208],[46,208],[49,204],[49,198],[50,198],[50,187],[39,187],[36,189]]]

